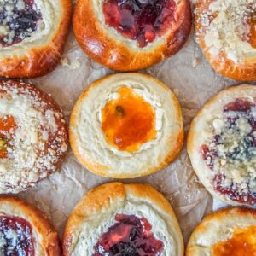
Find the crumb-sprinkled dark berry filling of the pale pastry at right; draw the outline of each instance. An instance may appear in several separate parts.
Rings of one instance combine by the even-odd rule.
[[[201,145],[201,157],[214,172],[213,189],[232,201],[256,204],[256,104],[236,99],[214,125],[212,142]]]

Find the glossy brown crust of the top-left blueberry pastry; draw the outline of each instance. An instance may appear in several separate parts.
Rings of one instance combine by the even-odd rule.
[[[70,26],[72,3],[71,0],[57,1],[61,2],[62,15],[55,36],[48,44],[32,47],[26,55],[14,55],[9,58],[0,56],[1,77],[26,79],[44,76],[53,71],[61,61]]]

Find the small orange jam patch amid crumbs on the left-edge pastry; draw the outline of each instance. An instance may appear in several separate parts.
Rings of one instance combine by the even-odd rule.
[[[0,119],[0,158],[8,156],[7,146],[16,126],[13,116],[7,115]]]

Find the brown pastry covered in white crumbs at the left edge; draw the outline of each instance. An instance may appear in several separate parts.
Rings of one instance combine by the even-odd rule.
[[[18,193],[47,177],[67,151],[61,109],[32,84],[0,82],[0,194]]]

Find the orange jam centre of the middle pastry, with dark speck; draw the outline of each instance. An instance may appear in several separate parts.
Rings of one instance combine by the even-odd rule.
[[[118,93],[102,109],[102,131],[114,147],[134,152],[155,137],[155,111],[131,88],[122,86]]]

